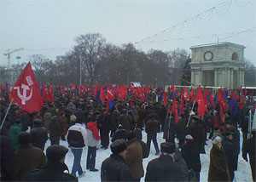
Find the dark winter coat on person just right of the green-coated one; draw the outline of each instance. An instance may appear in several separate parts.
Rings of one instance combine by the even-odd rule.
[[[32,145],[44,151],[44,145],[48,139],[46,128],[41,125],[35,125],[30,134],[32,136]]]

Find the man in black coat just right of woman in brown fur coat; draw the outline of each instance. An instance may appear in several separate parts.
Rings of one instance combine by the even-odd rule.
[[[236,151],[232,144],[232,139],[233,133],[227,131],[221,142],[227,157],[231,181],[234,179],[234,171],[236,169]]]

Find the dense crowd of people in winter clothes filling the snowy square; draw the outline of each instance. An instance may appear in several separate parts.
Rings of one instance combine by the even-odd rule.
[[[1,180],[78,181],[86,176],[81,156],[87,145],[86,169],[101,173],[102,181],[140,181],[144,175],[145,181],[200,181],[200,155],[206,153],[208,139],[212,139],[208,181],[233,181],[240,153],[246,161],[248,154],[253,181],[256,180],[256,129],[248,131],[247,118],[248,111],[254,113],[255,107],[249,100],[244,100],[235,115],[229,109],[224,111],[224,121],[218,101],[201,117],[193,100],[185,100],[176,122],[175,114],[167,111],[172,96],[164,105],[163,100],[155,100],[156,94],[148,92],[147,102],[133,94],[124,100],[115,98],[109,108],[107,100],[97,102],[93,94],[78,95],[69,90],[66,94],[55,92],[55,102],[44,102],[41,111],[28,113],[13,104],[7,113],[8,93],[2,91]],[[146,143],[142,140],[143,130],[147,133]],[[163,142],[159,145],[160,132]],[[252,136],[247,137],[248,133]],[[45,155],[48,139],[50,146]],[[59,145],[60,139],[67,140],[73,153],[71,173],[65,164],[68,149]],[[151,141],[156,158],[143,168],[143,158],[152,150]],[[99,170],[96,151],[100,147],[110,147],[112,154]]]

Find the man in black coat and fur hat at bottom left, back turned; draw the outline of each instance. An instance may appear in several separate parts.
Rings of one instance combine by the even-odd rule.
[[[26,176],[26,181],[78,181],[69,173],[64,163],[68,149],[62,145],[50,145],[46,150],[48,163],[46,167],[34,170]]]

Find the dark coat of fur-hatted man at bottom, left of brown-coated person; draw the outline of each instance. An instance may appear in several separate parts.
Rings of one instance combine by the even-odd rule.
[[[129,167],[125,160],[118,154],[111,154],[102,162],[101,168],[102,181],[131,181]]]

